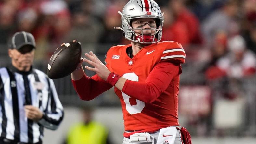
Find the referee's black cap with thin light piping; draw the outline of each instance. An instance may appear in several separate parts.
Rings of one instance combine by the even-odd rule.
[[[25,45],[30,45],[32,48],[35,48],[35,38],[29,32],[19,31],[10,39],[8,48],[19,50]]]

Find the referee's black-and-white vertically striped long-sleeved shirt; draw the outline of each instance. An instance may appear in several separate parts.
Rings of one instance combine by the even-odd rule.
[[[43,118],[28,119],[24,105],[38,107]],[[51,79],[40,70],[22,72],[13,66],[0,68],[0,137],[36,143],[43,128],[57,129],[63,119],[63,107]]]

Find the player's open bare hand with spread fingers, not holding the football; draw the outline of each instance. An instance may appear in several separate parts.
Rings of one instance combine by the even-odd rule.
[[[108,68],[98,59],[98,57],[93,54],[92,51],[85,53],[85,56],[89,59],[84,58],[83,61],[87,62],[88,64],[92,65],[94,68],[85,66],[86,69],[90,71],[94,71],[96,74],[100,76],[100,78],[106,80],[109,76],[110,71]]]

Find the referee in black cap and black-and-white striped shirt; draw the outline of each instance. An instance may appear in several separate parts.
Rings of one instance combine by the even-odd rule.
[[[34,53],[31,33],[13,35],[11,65],[0,68],[0,144],[42,144],[44,127],[55,130],[63,119],[53,81],[32,67]]]

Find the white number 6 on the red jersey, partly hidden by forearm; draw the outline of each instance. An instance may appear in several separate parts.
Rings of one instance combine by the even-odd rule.
[[[125,73],[122,76],[128,80],[139,81],[139,77],[135,73]],[[129,114],[138,114],[141,113],[142,109],[145,107],[145,103],[136,99],[136,104],[131,105],[129,99],[131,98],[127,94],[122,92],[123,100],[126,104],[125,108]]]

